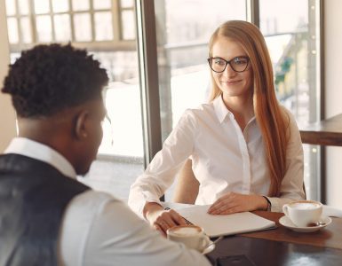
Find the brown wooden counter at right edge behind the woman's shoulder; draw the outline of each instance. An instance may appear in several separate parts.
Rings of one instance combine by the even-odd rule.
[[[299,131],[305,144],[342,146],[342,113],[311,123]]]

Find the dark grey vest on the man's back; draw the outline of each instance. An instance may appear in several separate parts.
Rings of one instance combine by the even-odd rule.
[[[57,265],[64,210],[88,189],[43,161],[0,155],[0,266]]]

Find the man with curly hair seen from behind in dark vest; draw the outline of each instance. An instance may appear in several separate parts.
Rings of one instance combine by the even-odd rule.
[[[19,137],[0,156],[0,265],[209,265],[76,181],[99,148],[107,81],[71,45],[36,46],[10,67],[2,91]]]

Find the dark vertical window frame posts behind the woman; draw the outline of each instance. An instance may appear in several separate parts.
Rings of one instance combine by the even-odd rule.
[[[155,69],[156,59],[157,59],[157,51],[156,51],[156,36],[155,36],[155,20],[151,20],[151,17],[155,17],[155,0],[136,0],[136,5],[140,6],[140,13],[137,16],[141,16],[142,20],[139,22],[143,25],[143,30],[145,31],[144,34],[148,35],[150,38],[148,39],[149,42],[143,42],[145,46],[145,50],[148,51],[144,54],[144,51],[141,50],[139,53],[139,61],[140,66],[144,68],[144,71],[140,71],[140,82],[145,81],[145,89],[141,91],[142,98],[147,103],[158,102],[159,103],[159,91],[157,90],[158,84],[158,74]],[[318,106],[319,110],[317,110],[318,118],[324,117],[324,66],[322,62],[324,62],[324,54],[323,54],[323,1],[322,0],[309,0],[309,4],[311,2],[319,8],[319,13],[317,14],[317,20],[319,28],[317,30],[320,34],[320,57],[319,57],[319,79],[318,86],[320,86],[320,104]],[[247,20],[251,23],[255,24],[259,27],[259,0],[246,0],[246,7],[247,7]],[[139,27],[137,27],[139,28]],[[145,38],[146,41],[146,38]],[[150,58],[149,60],[144,59],[144,57]],[[152,59],[151,59],[152,58]],[[145,61],[144,61],[145,60]],[[143,66],[142,63],[144,62]],[[154,74],[150,74],[150,73]],[[144,105],[141,105],[144,108]],[[147,106],[147,105],[145,105]],[[156,108],[153,106],[149,106],[152,109],[148,111],[142,110],[143,113],[143,129],[144,131],[147,130],[147,134],[145,135],[144,139],[147,142],[146,150],[145,150],[145,167],[147,164],[152,160],[155,153],[162,149],[162,140],[161,140],[161,118],[160,118],[160,108]],[[151,112],[153,110],[154,112]],[[156,112],[158,111],[158,112]],[[157,114],[156,114],[157,113]],[[155,129],[158,127],[158,129]],[[154,144],[153,146],[151,144]],[[320,178],[317,180],[317,200],[321,200],[323,203],[326,201],[326,177],[325,177],[325,149],[321,147],[321,153],[318,156],[318,162],[320,162]]]

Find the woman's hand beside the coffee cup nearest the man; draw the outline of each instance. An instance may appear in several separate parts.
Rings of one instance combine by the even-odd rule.
[[[155,202],[148,202],[144,208],[144,214],[150,225],[160,231],[166,237],[166,231],[176,225],[187,225],[184,218],[175,210],[164,210]]]

